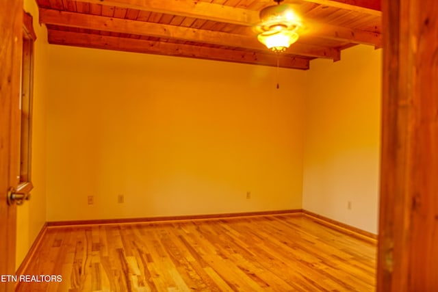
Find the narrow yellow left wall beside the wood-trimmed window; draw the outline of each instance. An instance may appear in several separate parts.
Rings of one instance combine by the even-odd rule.
[[[32,127],[31,200],[17,209],[16,267],[21,264],[34,239],[46,222],[46,100],[47,100],[47,32],[38,23],[33,0],[24,1],[24,9],[34,17],[37,40],[34,46],[34,120]]]

